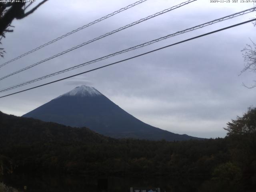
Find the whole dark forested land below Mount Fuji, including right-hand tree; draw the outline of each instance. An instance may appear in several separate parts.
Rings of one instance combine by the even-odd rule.
[[[178,142],[113,139],[87,128],[0,112],[0,175],[21,172],[197,179],[201,191],[254,191],[256,109],[226,138]]]

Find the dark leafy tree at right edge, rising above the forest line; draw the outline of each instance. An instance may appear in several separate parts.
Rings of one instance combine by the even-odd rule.
[[[231,162],[241,170],[246,188],[256,188],[256,108],[249,108],[242,116],[228,123],[228,142]],[[238,174],[238,172],[237,172]],[[242,191],[250,191],[245,189]]]

